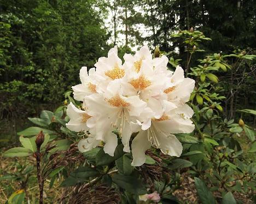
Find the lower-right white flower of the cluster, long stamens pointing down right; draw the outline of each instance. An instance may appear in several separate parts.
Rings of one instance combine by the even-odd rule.
[[[153,118],[151,126],[146,129],[142,125],[135,139],[132,140],[132,156],[133,166],[141,166],[144,164],[146,157],[145,152],[151,146],[161,149],[161,152],[171,156],[179,157],[182,153],[182,144],[176,138],[176,133],[191,133],[194,130],[194,125],[187,116],[191,116],[191,110],[188,113],[180,113],[181,110],[186,110],[188,106],[177,107],[164,113],[161,118]],[[192,110],[193,111],[193,110]]]

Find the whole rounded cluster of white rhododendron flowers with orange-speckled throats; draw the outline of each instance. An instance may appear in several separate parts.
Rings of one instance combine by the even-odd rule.
[[[131,135],[138,132],[131,143],[133,166],[145,162],[151,146],[179,157],[182,144],[173,134],[194,130],[193,110],[186,102],[195,81],[184,78],[179,66],[174,73],[168,70],[168,58],[153,59],[147,46],[134,56],[125,54],[124,64],[117,52],[117,46],[110,49],[89,73],[82,67],[82,83],[72,87],[74,99],[83,101],[83,110],[68,105],[67,128],[90,132],[80,140],[79,150],[89,151],[103,141],[104,152],[113,156],[119,136],[124,152],[130,152]]]

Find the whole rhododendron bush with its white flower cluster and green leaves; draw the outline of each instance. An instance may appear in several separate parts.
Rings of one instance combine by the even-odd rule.
[[[60,107],[28,118],[34,126],[18,133],[22,147],[3,154],[28,158],[0,177],[20,184],[8,203],[29,203],[33,179],[40,204],[226,204],[245,195],[251,202],[255,130],[242,114],[256,113],[225,118],[220,75],[253,69],[256,56],[237,51],[196,61],[200,43],[211,39],[193,28],[172,37],[184,39],[185,67],[158,47],[120,59],[114,46],[94,67],[73,73],[80,84]],[[54,201],[45,186],[56,191]]]

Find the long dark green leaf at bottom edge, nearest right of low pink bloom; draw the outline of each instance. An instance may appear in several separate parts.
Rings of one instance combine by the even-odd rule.
[[[195,186],[197,190],[197,194],[200,197],[200,200],[203,204],[215,204],[216,201],[210,190],[206,187],[205,183],[201,181],[199,178],[195,179]]]

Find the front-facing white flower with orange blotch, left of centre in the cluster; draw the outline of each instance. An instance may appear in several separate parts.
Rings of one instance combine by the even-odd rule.
[[[130,152],[129,141],[133,133],[136,118],[145,110],[146,103],[137,95],[124,97],[119,93],[119,83],[108,87],[106,94],[92,94],[85,97],[88,113],[96,121],[96,139],[104,141],[104,135],[117,129],[124,145],[124,151]],[[95,124],[88,124],[94,127]],[[116,137],[116,136],[115,136]],[[116,146],[113,145],[112,148]]]

